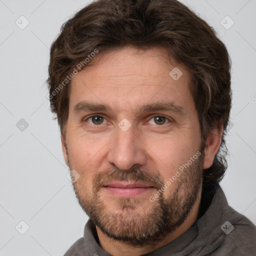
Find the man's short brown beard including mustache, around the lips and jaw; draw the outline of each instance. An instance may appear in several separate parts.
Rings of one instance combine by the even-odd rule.
[[[109,196],[103,199],[99,193],[103,184],[111,181],[144,182],[157,191],[164,186],[166,181],[159,174],[153,175],[135,165],[128,170],[112,167],[96,172],[90,193],[82,189],[81,180],[73,183],[73,189],[82,209],[106,236],[133,246],[154,244],[186,220],[198,199],[204,159],[203,150],[200,152],[201,155],[166,188],[168,195],[163,196],[162,192],[153,202],[147,197],[148,203],[144,207],[141,205],[145,198]],[[108,209],[107,203],[115,206]],[[149,208],[148,204],[151,204]]]

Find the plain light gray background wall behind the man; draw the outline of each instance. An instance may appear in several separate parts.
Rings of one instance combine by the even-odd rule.
[[[63,255],[83,235],[87,216],[66,177],[45,80],[60,25],[87,2],[0,0],[0,255]],[[256,224],[256,1],[182,2],[215,28],[230,53],[233,127],[221,186],[229,204]],[[29,21],[23,30],[15,24],[21,15]],[[234,21],[229,29],[220,23],[226,15]],[[29,124],[23,131],[16,127],[21,118]],[[21,220],[29,226],[24,234],[15,229]]]

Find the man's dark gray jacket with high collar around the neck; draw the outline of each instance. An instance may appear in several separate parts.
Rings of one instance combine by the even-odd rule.
[[[256,227],[245,216],[228,206],[223,190],[217,184],[205,212],[182,235],[147,256],[255,256]],[[203,201],[201,201],[201,204]],[[64,256],[111,256],[97,242],[96,229],[89,219],[84,236]]]

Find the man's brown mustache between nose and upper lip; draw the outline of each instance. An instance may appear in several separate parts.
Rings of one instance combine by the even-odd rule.
[[[96,172],[93,175],[93,192],[97,193],[101,186],[113,181],[143,182],[148,184],[148,186],[156,187],[157,190],[164,185],[164,180],[159,174],[153,175],[135,166],[127,170],[122,170],[114,166],[107,171]]]

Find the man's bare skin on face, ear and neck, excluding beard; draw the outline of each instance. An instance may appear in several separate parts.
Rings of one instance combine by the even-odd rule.
[[[165,49],[159,47],[147,50],[125,47],[98,53],[92,60],[92,66],[86,67],[72,78],[66,133],[61,141],[66,164],[80,175],[74,183],[80,198],[92,198],[94,175],[112,167],[125,172],[132,166],[139,166],[152,176],[159,175],[166,182],[200,148],[199,120],[188,89],[190,74],[174,61],[172,64],[166,62],[164,56]],[[169,75],[173,67],[182,71],[178,80]],[[82,101],[104,103],[111,110],[75,113],[74,106]],[[135,111],[144,104],[163,101],[174,102],[182,107],[182,114],[161,109],[141,113]],[[104,117],[103,123],[94,124],[91,118],[88,119],[91,114]],[[164,124],[159,125],[155,123],[152,114],[167,119]],[[131,124],[126,131],[118,126],[123,118]],[[211,166],[221,143],[221,134],[221,126],[209,133],[205,141],[203,168]],[[202,168],[198,171],[201,172]],[[181,180],[177,178],[163,191],[162,198],[169,198]],[[185,196],[186,189],[188,188],[185,186],[178,189],[180,198]],[[131,208],[127,216],[142,218],[156,203],[157,200],[150,202],[148,199],[156,191],[151,188],[133,196],[139,204]],[[97,195],[109,214],[127,213],[117,203],[120,199],[118,195],[103,187]],[[185,221],[156,243],[133,246],[109,238],[96,226],[100,246],[113,255],[125,256],[145,254],[167,244],[197,220],[201,186],[196,196]]]

